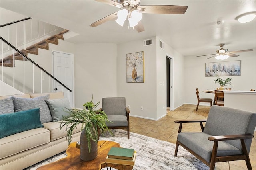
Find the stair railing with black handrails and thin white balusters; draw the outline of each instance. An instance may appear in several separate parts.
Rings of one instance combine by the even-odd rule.
[[[32,18],[24,18],[22,20],[18,20],[18,21],[14,21],[14,22],[11,22],[11,23],[7,23],[7,24],[4,24],[4,25],[0,25],[0,27],[9,27],[9,25],[11,24],[14,24],[14,23],[19,23],[21,21],[23,21],[23,47],[24,49],[26,49],[26,25],[25,25],[25,22],[26,20],[31,20]],[[31,22],[32,23],[32,22]],[[38,22],[39,23],[39,22]],[[46,32],[45,32],[45,23],[44,23],[44,35],[46,35]],[[51,27],[51,25],[50,25]],[[56,31],[57,29],[56,28],[59,28],[61,29],[60,27],[56,27],[54,26],[54,31]],[[51,28],[49,28],[49,30],[51,30]],[[32,31],[32,25],[31,25],[31,31]],[[38,25],[38,31],[39,31],[39,25]],[[9,40],[9,28],[7,29],[7,38]],[[51,31],[50,31],[51,32]],[[53,32],[53,31],[52,31]],[[3,81],[3,77],[4,77],[4,62],[3,62],[3,59],[4,59],[4,43],[6,43],[6,45],[8,45],[8,48],[7,48],[7,51],[9,51],[10,53],[10,47],[11,47],[11,50],[13,51],[13,64],[15,63],[15,51],[18,52],[20,55],[23,56],[23,93],[25,93],[25,58],[30,61],[32,64],[33,64],[33,87],[32,87],[32,91],[34,93],[34,65],[36,65],[40,70],[41,70],[41,93],[42,93],[42,72],[44,72],[45,74],[48,75],[48,92],[50,92],[50,78],[52,78],[54,81],[55,81],[55,88],[56,88],[56,82],[58,82],[59,84],[62,85],[62,91],[63,91],[63,88],[67,89],[69,92],[72,92],[72,90],[70,90],[67,86],[65,86],[62,82],[60,82],[57,78],[55,78],[54,76],[52,76],[49,72],[47,72],[46,70],[44,70],[44,68],[42,68],[40,65],[38,65],[37,63],[35,63],[34,61],[32,61],[32,59],[30,59],[28,56],[26,56],[24,53],[22,53],[19,49],[18,49],[18,39],[17,39],[17,26],[16,26],[16,47],[14,47],[14,45],[12,45],[11,43],[9,43],[8,40],[5,40],[3,37],[0,37],[0,39],[2,40],[1,42],[1,52],[0,54],[2,55],[2,57],[0,57],[0,59],[2,59],[2,69],[1,69],[1,80]],[[33,33],[31,33],[31,37],[33,38]],[[38,33],[38,37],[37,39],[39,38],[39,33]],[[31,40],[32,41],[32,40]],[[7,53],[5,53],[7,54]],[[13,65],[13,88],[15,88],[15,67]],[[67,96],[69,97],[69,95]]]

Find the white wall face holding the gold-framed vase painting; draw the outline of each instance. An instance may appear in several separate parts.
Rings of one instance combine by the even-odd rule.
[[[156,119],[156,37],[152,45],[143,40],[118,45],[118,96],[126,98],[131,115]],[[147,38],[150,39],[150,38]],[[144,51],[144,83],[126,83],[126,54]],[[143,106],[143,110],[140,107]]]

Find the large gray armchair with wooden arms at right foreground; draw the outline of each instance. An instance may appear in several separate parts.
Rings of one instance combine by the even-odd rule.
[[[214,170],[216,162],[245,160],[252,170],[249,152],[256,125],[256,113],[212,106],[206,120],[180,120],[176,149],[181,145]],[[181,132],[182,124],[199,122],[202,132]],[[205,123],[205,127],[203,126]]]

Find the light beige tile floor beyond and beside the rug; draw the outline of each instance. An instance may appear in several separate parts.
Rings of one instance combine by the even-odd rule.
[[[199,108],[210,108],[210,106],[199,106]],[[167,110],[167,115],[158,121],[143,119],[138,117],[130,117],[130,131],[148,137],[154,137],[163,141],[176,143],[178,134],[178,123],[175,120],[181,119],[207,119],[207,117],[198,115],[194,111],[196,105],[184,104],[174,111]],[[199,123],[183,125],[182,131],[200,131]],[[174,153],[170,153],[173,154]],[[250,149],[250,161],[252,169],[256,170],[256,131]],[[247,170],[244,160],[220,162],[216,163],[217,170]]]

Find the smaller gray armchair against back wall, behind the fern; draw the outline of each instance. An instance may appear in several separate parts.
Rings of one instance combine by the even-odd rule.
[[[103,98],[100,110],[103,110],[108,116],[108,120],[112,122],[106,122],[109,129],[126,129],[127,137],[130,138],[130,110],[126,107],[124,97]]]

